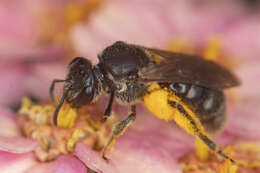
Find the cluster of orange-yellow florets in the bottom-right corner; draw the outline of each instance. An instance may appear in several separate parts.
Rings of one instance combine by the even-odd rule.
[[[186,173],[218,172],[218,173],[258,173],[260,171],[259,143],[235,143],[224,148],[224,152],[232,155],[236,164],[223,161],[219,156],[210,154],[210,161],[199,161],[194,153],[184,156],[180,163]]]

